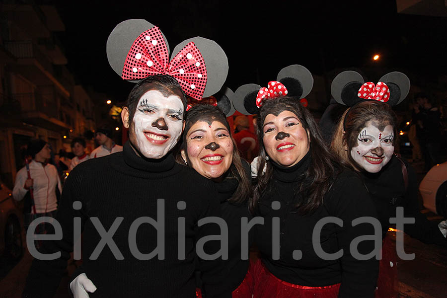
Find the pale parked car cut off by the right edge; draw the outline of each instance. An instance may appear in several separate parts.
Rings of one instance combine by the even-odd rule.
[[[419,185],[425,208],[447,218],[447,162],[437,164]]]

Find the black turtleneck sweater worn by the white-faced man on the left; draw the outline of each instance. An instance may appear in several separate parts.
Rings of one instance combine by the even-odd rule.
[[[63,238],[44,241],[46,253],[61,251],[53,261],[35,259],[32,263],[24,297],[52,297],[73,250],[73,221],[80,217],[83,226],[83,264],[74,276],[85,273],[97,290],[90,297],[195,297],[194,271],[203,273],[205,289],[220,283],[227,275],[218,261],[199,261],[196,265],[195,243],[206,235],[220,234],[217,224],[198,226],[198,220],[217,216],[220,208],[213,183],[194,170],[177,164],[172,154],[161,159],[139,157],[127,143],[123,152],[87,160],[74,168],[64,187],[57,220]],[[157,199],[164,199],[164,260],[157,256],[141,260],[129,248],[129,230],[138,218],[157,220]],[[82,203],[74,210],[73,202]],[[179,210],[178,203],[186,202]],[[180,203],[181,205],[182,203]],[[181,209],[181,208],[180,208]],[[117,218],[122,222],[113,235],[122,258],[117,259],[108,245],[97,259],[90,259],[101,240],[92,218],[98,218],[108,231]],[[178,218],[186,234],[186,254],[178,259]],[[138,250],[150,253],[157,246],[157,231],[147,223],[138,227]],[[158,245],[161,245],[158,243]],[[218,241],[205,246],[211,254],[220,248]]]

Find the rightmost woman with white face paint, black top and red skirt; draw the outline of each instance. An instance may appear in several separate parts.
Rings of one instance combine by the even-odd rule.
[[[342,163],[359,173],[377,210],[383,247],[376,297],[398,297],[396,251],[391,237],[385,237],[397,207],[404,208],[405,218],[415,219],[414,224],[404,225],[404,232],[425,243],[447,245],[443,229],[420,213],[416,172],[393,154],[395,133],[391,106],[367,100],[345,111],[331,144]]]

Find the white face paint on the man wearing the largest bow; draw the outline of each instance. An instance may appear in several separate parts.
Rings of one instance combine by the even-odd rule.
[[[180,97],[165,97],[158,90],[149,90],[138,102],[129,139],[144,156],[161,158],[174,148],[182,130],[183,103]]]

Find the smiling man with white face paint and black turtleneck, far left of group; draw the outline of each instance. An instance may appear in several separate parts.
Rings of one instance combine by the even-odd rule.
[[[44,241],[46,253],[62,255],[34,260],[24,297],[54,293],[81,226],[83,264],[73,274],[74,297],[194,297],[195,270],[203,273],[205,289],[219,282],[224,269],[196,263],[195,251],[200,238],[220,234],[216,224],[198,226],[202,218],[220,217],[218,203],[210,200],[216,190],[170,152],[184,128],[185,108],[185,95],[169,75],[150,76],[133,88],[122,112],[129,142],[123,152],[71,172],[57,218],[62,239]],[[205,243],[208,254],[220,249],[213,242]],[[75,259],[79,252],[75,246]]]

